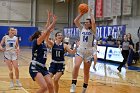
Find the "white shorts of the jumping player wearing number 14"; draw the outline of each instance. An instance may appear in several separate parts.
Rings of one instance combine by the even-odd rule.
[[[82,57],[83,60],[91,61],[91,59],[93,58],[93,48],[78,47],[76,56]]]

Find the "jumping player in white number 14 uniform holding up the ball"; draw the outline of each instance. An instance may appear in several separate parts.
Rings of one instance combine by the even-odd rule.
[[[80,19],[83,16],[80,13],[74,20],[75,25],[81,31],[80,34],[80,45],[77,49],[77,53],[75,56],[75,66],[72,73],[72,84],[71,84],[71,93],[75,93],[76,82],[78,77],[78,72],[82,61],[84,61],[84,83],[82,93],[86,92],[89,80],[89,70],[91,66],[91,58],[93,57],[93,35],[96,33],[96,25],[94,15],[91,13],[90,9],[90,17],[91,19],[86,19],[84,26],[80,23]]]

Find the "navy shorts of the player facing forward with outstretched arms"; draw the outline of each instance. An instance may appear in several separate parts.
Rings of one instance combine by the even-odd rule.
[[[64,63],[51,62],[50,67],[49,67],[49,72],[52,73],[53,75],[56,74],[57,72],[62,72],[62,74],[64,74],[64,70],[65,70]]]

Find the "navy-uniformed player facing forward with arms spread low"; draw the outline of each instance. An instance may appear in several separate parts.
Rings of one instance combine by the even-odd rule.
[[[52,61],[49,67],[49,73],[51,77],[54,76],[54,89],[55,93],[59,91],[59,80],[60,77],[63,75],[65,70],[65,59],[64,54],[65,52],[74,54],[76,52],[76,48],[71,50],[69,46],[63,41],[63,36],[61,32],[57,32],[55,34],[55,41],[47,39],[47,44],[52,48]]]

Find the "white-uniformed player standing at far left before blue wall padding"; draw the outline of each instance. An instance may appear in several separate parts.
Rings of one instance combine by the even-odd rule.
[[[5,45],[3,48],[2,46]],[[10,28],[8,34],[2,38],[0,43],[0,50],[4,52],[4,61],[6,62],[8,69],[9,69],[9,77],[10,87],[14,87],[14,78],[13,78],[13,68],[15,69],[15,76],[16,76],[16,84],[18,87],[21,87],[21,83],[19,81],[19,68],[17,62],[17,53],[19,51],[19,44],[18,38],[15,36],[15,29]]]

